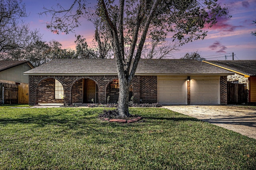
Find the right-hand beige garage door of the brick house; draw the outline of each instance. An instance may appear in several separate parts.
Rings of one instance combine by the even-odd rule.
[[[218,104],[218,79],[190,81],[191,104]]]

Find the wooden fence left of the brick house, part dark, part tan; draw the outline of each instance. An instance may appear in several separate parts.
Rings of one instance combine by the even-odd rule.
[[[28,104],[28,84],[0,83],[0,104]]]

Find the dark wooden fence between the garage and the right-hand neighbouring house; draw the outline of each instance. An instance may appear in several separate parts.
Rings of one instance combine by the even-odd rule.
[[[247,103],[246,84],[234,84],[228,82],[228,104]]]

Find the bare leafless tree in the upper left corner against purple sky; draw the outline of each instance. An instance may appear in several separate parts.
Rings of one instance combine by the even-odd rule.
[[[31,31],[22,21],[27,17],[22,0],[0,0],[0,53],[21,48],[41,39],[38,30]]]

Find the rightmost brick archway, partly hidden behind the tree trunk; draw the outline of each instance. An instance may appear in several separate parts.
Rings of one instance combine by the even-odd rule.
[[[133,91],[133,87],[131,85],[129,90],[129,101],[131,100],[133,95],[132,91]],[[106,98],[107,99],[109,98],[108,103],[118,102],[118,98],[119,98],[119,80],[118,79],[113,79],[108,83],[106,87]]]

